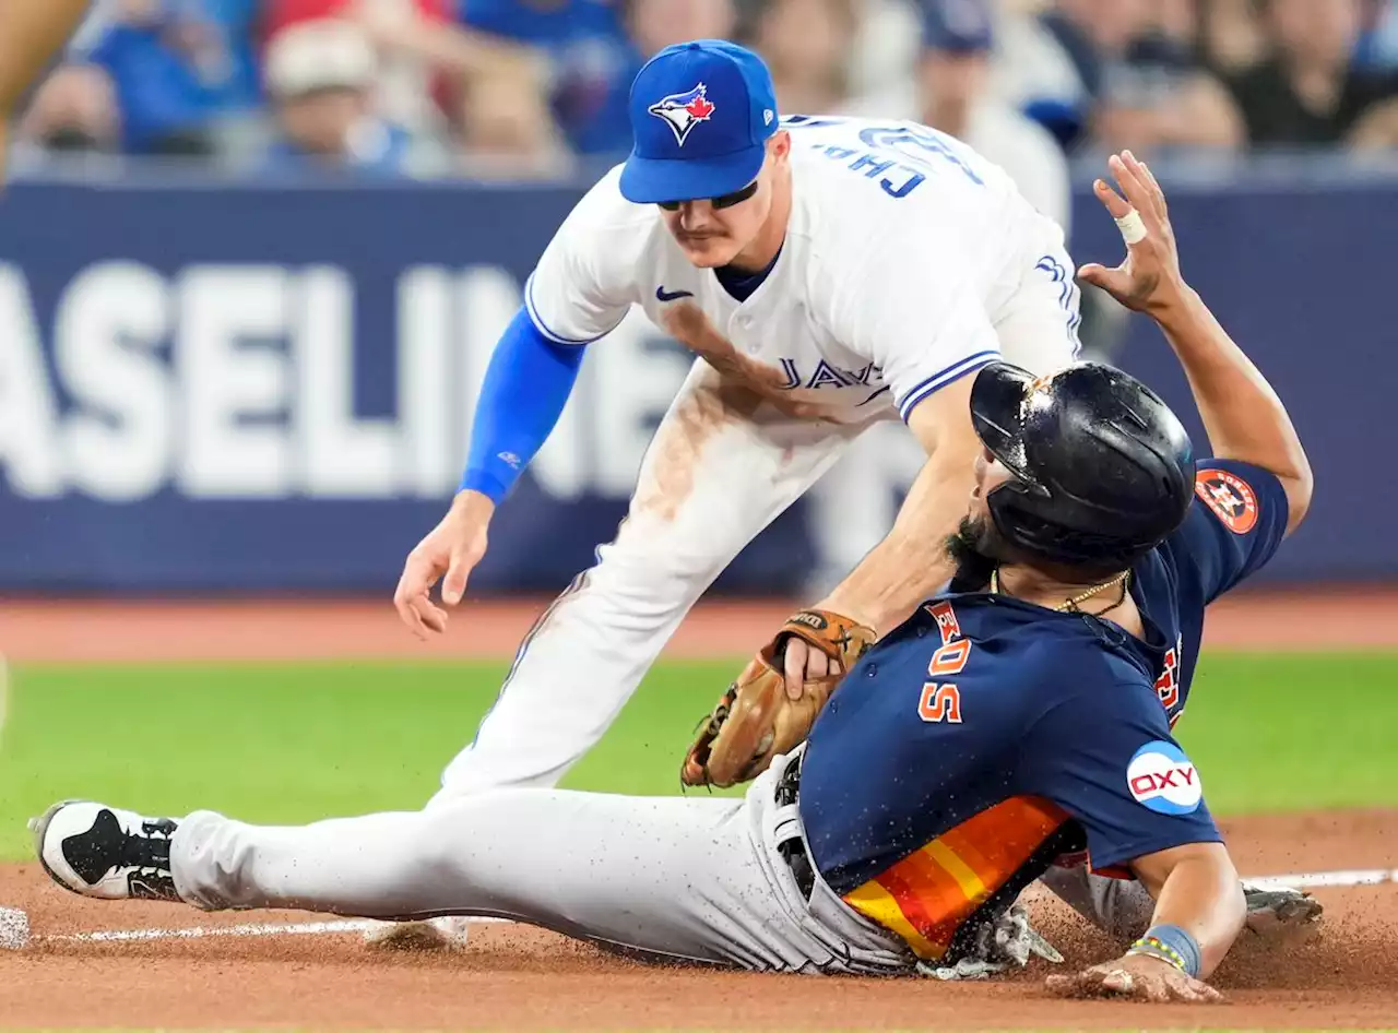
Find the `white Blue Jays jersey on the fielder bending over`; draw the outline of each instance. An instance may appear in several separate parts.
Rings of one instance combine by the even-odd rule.
[[[966,144],[913,122],[791,116],[793,207],[776,264],[747,299],[696,268],[621,166],[559,228],[526,284],[538,330],[586,344],[640,305],[656,326],[691,299],[734,347],[781,370],[829,418],[905,419],[938,387],[1000,356],[995,326],[1046,281],[1061,313],[1005,359],[1040,372],[1076,349],[1062,231]],[[1016,337],[1018,340],[1018,337]]]

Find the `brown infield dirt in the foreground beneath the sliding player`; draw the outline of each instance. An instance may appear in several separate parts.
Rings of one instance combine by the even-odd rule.
[[[1398,812],[1232,822],[1244,871],[1391,865]],[[1398,1025],[1398,886],[1317,890],[1328,913],[1289,944],[1234,949],[1218,1006],[1058,1001],[1047,966],[1004,983],[657,970],[514,925],[480,925],[460,953],[373,953],[354,935],[38,944],[0,956],[0,1026],[231,1029],[913,1029],[1376,1027]],[[264,920],[169,904],[101,903],[36,865],[0,869],[0,900],[41,934]],[[1069,962],[1109,945],[1036,904]],[[309,916],[291,914],[288,920]]]

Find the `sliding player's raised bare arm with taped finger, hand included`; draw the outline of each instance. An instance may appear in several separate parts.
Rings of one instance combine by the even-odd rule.
[[[1184,282],[1165,192],[1151,169],[1130,151],[1107,164],[1121,193],[1100,179],[1093,189],[1121,228],[1127,257],[1116,268],[1083,266],[1078,275],[1160,326],[1190,379],[1212,454],[1276,475],[1289,506],[1286,530],[1296,530],[1310,507],[1311,470],[1286,408]]]

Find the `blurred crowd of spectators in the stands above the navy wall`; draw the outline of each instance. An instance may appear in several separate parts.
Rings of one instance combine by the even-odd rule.
[[[761,52],[784,113],[911,117],[1032,200],[1102,148],[1398,147],[1398,0],[98,0],[27,161],[554,176],[629,148],[670,43]]]

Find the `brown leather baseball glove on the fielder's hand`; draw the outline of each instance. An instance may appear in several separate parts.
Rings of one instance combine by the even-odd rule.
[[[795,700],[787,696],[781,674],[793,637],[830,658],[830,674],[807,681]],[[805,741],[825,700],[874,637],[871,628],[825,609],[794,614],[723,693],[685,755],[679,780],[727,788],[761,774],[773,756]]]

